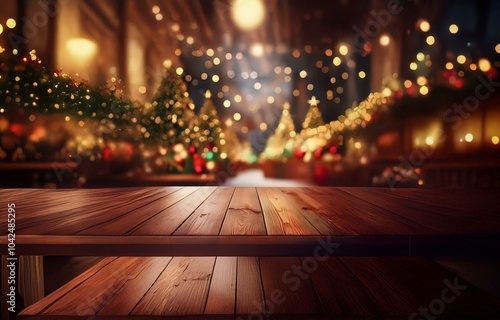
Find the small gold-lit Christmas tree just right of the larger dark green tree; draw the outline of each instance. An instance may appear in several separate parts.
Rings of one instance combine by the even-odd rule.
[[[222,151],[226,144],[222,132],[217,109],[211,99],[209,90],[205,93],[205,103],[200,109],[200,114],[195,121],[193,130],[197,133],[196,146],[203,152]],[[215,149],[217,148],[217,149]],[[214,150],[215,149],[215,150]]]

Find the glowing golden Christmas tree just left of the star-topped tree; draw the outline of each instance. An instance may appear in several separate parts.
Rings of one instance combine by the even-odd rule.
[[[290,104],[285,103],[278,127],[267,140],[266,148],[261,155],[262,158],[279,159],[283,156],[290,156],[293,148],[292,139],[295,136],[295,124],[290,114]]]

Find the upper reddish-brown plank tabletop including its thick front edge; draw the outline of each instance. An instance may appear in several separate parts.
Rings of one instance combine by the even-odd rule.
[[[500,243],[495,190],[3,189],[0,198],[16,205],[17,254],[309,255],[335,239],[348,245],[340,255],[416,255]]]

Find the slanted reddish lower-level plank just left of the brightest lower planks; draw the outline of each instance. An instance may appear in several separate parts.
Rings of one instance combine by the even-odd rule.
[[[121,316],[130,314],[171,260],[172,257],[141,258],[138,261],[140,266],[136,275],[129,277],[130,280],[111,297],[98,315]]]

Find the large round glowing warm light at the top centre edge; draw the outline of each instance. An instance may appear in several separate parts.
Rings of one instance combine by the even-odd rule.
[[[262,0],[235,0],[231,6],[231,16],[241,29],[255,29],[264,20],[264,4]]]

